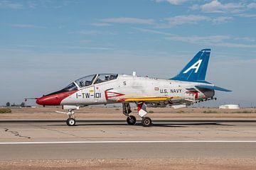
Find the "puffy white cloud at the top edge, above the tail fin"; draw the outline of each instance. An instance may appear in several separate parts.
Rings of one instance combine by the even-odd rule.
[[[196,6],[193,6],[191,8],[195,8]],[[206,13],[238,13],[240,11],[243,11],[245,6],[241,3],[227,3],[227,4],[221,4],[218,0],[213,0],[208,4],[203,4],[202,6],[199,6],[203,12]]]

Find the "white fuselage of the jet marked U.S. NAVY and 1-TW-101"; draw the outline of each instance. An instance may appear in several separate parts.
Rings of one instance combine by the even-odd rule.
[[[92,84],[78,89],[77,92],[61,101],[60,105],[87,106],[117,103],[120,98],[174,97],[165,104],[189,103],[214,96],[214,91],[200,91],[189,81],[174,81],[119,74],[117,79]],[[193,89],[193,91],[191,91]]]

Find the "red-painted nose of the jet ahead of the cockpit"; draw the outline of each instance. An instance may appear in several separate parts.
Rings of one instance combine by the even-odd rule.
[[[49,96],[43,96],[36,100],[38,105],[45,105],[45,106],[58,106],[60,102],[63,101],[64,98],[67,98],[71,94],[74,94],[76,91],[67,91],[60,94],[52,94]]]

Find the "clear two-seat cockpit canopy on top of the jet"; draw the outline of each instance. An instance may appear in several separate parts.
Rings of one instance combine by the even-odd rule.
[[[73,81],[72,84],[69,84],[63,90],[74,91],[74,90],[78,90],[78,88],[90,86],[92,84],[100,84],[105,81],[117,79],[117,77],[118,77],[118,74],[92,74],[90,76],[82,77],[80,79]]]

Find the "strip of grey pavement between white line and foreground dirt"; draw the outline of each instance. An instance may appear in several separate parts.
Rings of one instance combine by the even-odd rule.
[[[256,157],[253,142],[166,142],[0,145],[0,160]]]

